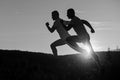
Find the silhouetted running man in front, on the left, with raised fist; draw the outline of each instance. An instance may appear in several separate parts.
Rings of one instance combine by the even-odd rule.
[[[57,56],[57,46],[61,46],[61,45],[65,45],[67,44],[66,42],[66,38],[69,37],[69,33],[65,30],[64,26],[63,26],[63,20],[59,17],[59,13],[58,11],[53,11],[52,12],[52,19],[54,20],[54,24],[52,27],[49,26],[49,23],[46,23],[46,26],[48,28],[48,30],[53,33],[55,30],[58,32],[59,36],[61,39],[56,40],[55,42],[53,42],[50,47],[52,49],[53,55]],[[67,23],[67,21],[66,21]]]

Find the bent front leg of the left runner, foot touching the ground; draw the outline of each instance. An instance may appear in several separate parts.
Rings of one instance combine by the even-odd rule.
[[[59,39],[59,40],[53,42],[53,43],[50,45],[54,56],[57,56],[57,49],[56,49],[56,47],[57,47],[57,46],[64,45],[64,44],[66,44],[65,41],[63,41],[62,39]]]

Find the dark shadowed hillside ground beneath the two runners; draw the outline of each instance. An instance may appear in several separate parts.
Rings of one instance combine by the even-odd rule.
[[[97,52],[102,67],[80,54],[0,50],[0,80],[120,80],[120,52]],[[118,79],[117,79],[118,78]]]

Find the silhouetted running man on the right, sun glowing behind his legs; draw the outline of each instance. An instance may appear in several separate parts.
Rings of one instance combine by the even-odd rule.
[[[73,28],[77,35],[67,37],[66,41],[69,44],[75,46],[78,49],[78,51],[82,53],[85,53],[86,51],[82,48],[78,48],[79,46],[77,45],[77,42],[87,45],[91,50],[91,54],[94,60],[97,61],[99,66],[101,66],[99,58],[97,54],[94,52],[92,45],[90,43],[90,36],[87,30],[85,29],[85,26],[83,25],[83,23],[85,23],[91,29],[91,33],[95,33],[95,30],[92,28],[92,26],[87,21],[81,20],[80,18],[75,16],[75,11],[72,8],[67,10],[67,17],[71,19],[71,21],[68,24],[68,26],[65,27],[65,29],[68,31],[71,28]]]

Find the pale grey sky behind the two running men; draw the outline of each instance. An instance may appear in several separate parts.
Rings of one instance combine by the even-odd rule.
[[[52,54],[50,44],[59,39],[45,26],[52,26],[51,12],[58,10],[60,17],[69,20],[67,9],[75,9],[76,16],[91,23],[90,33],[95,51],[120,46],[119,0],[0,0],[0,49],[24,50]],[[69,31],[75,35],[74,30]],[[57,47],[58,54],[75,53],[68,45]]]

